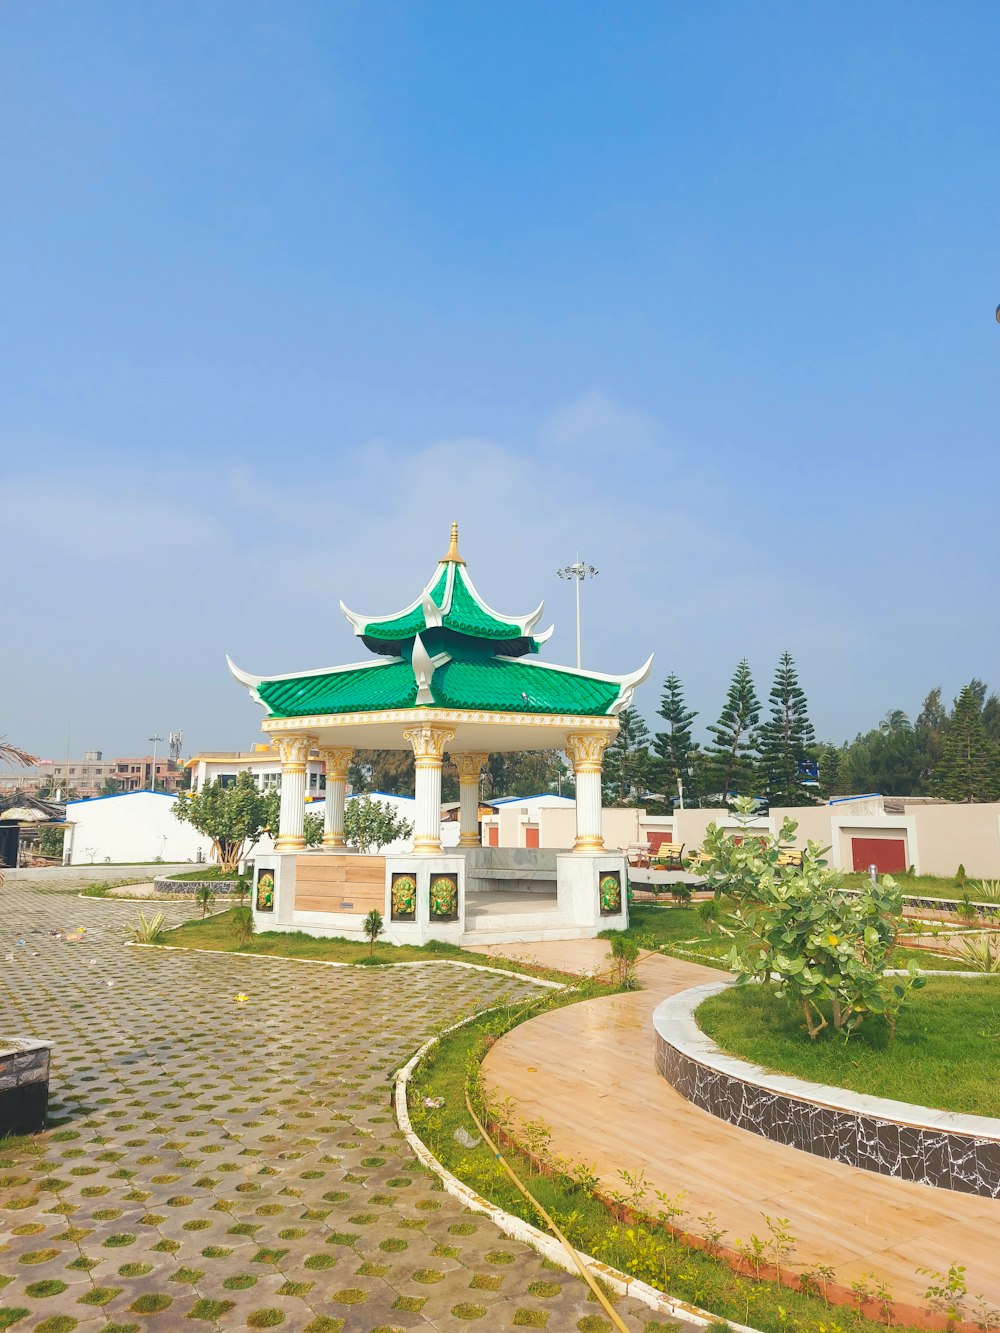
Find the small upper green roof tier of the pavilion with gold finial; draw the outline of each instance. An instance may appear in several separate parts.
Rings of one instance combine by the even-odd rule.
[[[437,563],[429,583],[408,607],[389,616],[363,616],[349,611],[341,601],[340,609],[365,647],[377,653],[396,653],[401,644],[429,629],[451,631],[467,639],[488,643],[509,643],[516,655],[537,652],[552,629],[533,633],[541,619],[544,603],[527,616],[504,616],[493,611],[480,597],[469,579],[465,561],[459,555],[457,524],[452,524],[452,543],[448,555]],[[516,640],[516,648],[513,644]]]

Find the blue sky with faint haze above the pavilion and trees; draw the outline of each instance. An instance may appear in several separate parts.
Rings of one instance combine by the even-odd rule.
[[[0,7],[0,734],[256,738],[461,523],[843,740],[996,670],[992,4]]]

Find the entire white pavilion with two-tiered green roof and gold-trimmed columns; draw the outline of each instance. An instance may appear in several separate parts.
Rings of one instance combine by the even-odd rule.
[[[645,680],[652,657],[627,676],[608,676],[536,660],[552,633],[536,632],[543,608],[503,616],[488,607],[459,555],[457,524],[433,577],[403,611],[364,616],[341,609],[373,655],[345,666],[253,676],[232,674],[265,710],[261,729],[281,758],[281,816],[272,856],[257,857],[255,913],[261,929],[360,933],[359,917],[384,912],[399,942],[484,930],[495,938],[596,934],[627,922],[624,858],[601,837],[601,761],[619,712]],[[416,813],[413,850],[369,857],[344,842],[344,798],[356,748],[412,749]],[[305,766],[313,749],[327,770],[323,846],[303,838]],[[483,848],[479,784],[488,754],[565,750],[576,777],[576,840],[565,853]],[[460,844],[441,848],[441,762],[460,778]],[[516,864],[515,864],[516,862]],[[549,864],[551,862],[551,864]],[[476,894],[541,893],[552,910],[479,910]],[[539,886],[543,886],[540,889]],[[501,905],[504,900],[500,900]],[[499,926],[483,925],[496,916]],[[544,918],[544,920],[543,920]],[[527,932],[527,934],[525,934]]]

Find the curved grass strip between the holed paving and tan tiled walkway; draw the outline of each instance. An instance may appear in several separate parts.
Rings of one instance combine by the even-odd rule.
[[[596,988],[581,985],[572,992],[541,997],[529,1012],[512,1006],[447,1033],[420,1062],[409,1086],[413,1129],[435,1157],[477,1194],[543,1230],[545,1228],[536,1210],[503,1173],[489,1148],[480,1141],[469,1149],[456,1140],[455,1133],[460,1128],[465,1134],[479,1138],[465,1108],[465,1086],[468,1084],[473,1090],[476,1104],[480,1064],[497,1036],[525,1017],[533,1017],[548,1008],[593,998],[597,993]],[[444,1105],[428,1110],[423,1104],[425,1097],[443,1097]],[[476,1109],[481,1116],[479,1105]],[[789,1329],[796,1329],[797,1333],[829,1333],[835,1328],[840,1333],[876,1333],[883,1328],[848,1306],[832,1308],[819,1296],[808,1296],[776,1282],[740,1277],[724,1260],[687,1248],[653,1220],[641,1221],[631,1216],[624,1222],[619,1221],[589,1192],[585,1180],[568,1174],[573,1170],[572,1164],[560,1162],[561,1169],[539,1170],[531,1158],[509,1145],[504,1149],[504,1156],[579,1250],[651,1282],[675,1298],[689,1301],[720,1318],[749,1324],[763,1333],[788,1333]],[[589,1174],[585,1164],[575,1165],[584,1166],[580,1177]],[[623,1158],[623,1170],[631,1166]],[[679,1222],[697,1234],[696,1218],[681,1216]],[[769,1237],[763,1214],[760,1233],[765,1240]],[[733,1240],[723,1233],[719,1244],[731,1245]],[[796,1266],[795,1256],[784,1260],[783,1266]]]

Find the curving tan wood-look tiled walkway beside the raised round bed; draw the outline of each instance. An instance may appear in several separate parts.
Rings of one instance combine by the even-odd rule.
[[[497,946],[508,952],[511,946]],[[553,968],[600,970],[600,940],[513,946]],[[899,1301],[921,1304],[928,1278],[964,1264],[973,1293],[1000,1305],[1000,1201],[932,1189],[841,1166],[733,1129],[676,1093],[653,1068],[651,1016],[665,996],[719,973],[655,957],[640,964],[644,989],[541,1014],[491,1050],[485,1077],[525,1120],[543,1120],[551,1148],[592,1165],[609,1189],[619,1170],[645,1172],[653,1190],[687,1190],[687,1225],[708,1210],[728,1236],[767,1234],[763,1213],[787,1217],[793,1265],[829,1264],[849,1285],[884,1278]]]

